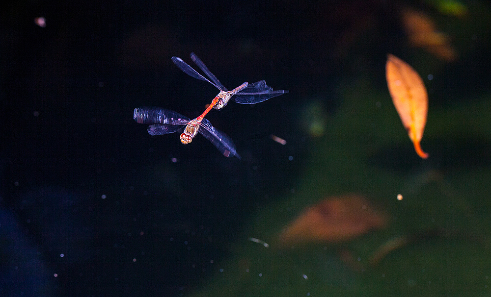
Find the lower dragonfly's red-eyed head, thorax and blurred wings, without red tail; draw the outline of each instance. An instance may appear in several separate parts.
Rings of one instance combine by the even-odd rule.
[[[183,126],[181,142],[191,143],[198,132],[208,139],[225,157],[241,158],[235,150],[234,142],[223,132],[215,129],[214,126],[199,116],[194,120],[183,116],[175,111],[160,107],[139,107],[133,111],[133,119],[138,124],[150,124],[147,128],[150,135],[164,135],[178,131]]]

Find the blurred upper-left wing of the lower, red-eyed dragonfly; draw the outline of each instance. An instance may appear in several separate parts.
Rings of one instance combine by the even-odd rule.
[[[184,125],[190,119],[175,111],[159,107],[138,107],[133,111],[133,119],[138,124]],[[169,132],[170,133],[170,132]]]

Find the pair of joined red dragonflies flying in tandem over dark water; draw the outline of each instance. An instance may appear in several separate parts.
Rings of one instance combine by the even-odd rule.
[[[138,107],[133,112],[133,118],[139,124],[151,124],[147,130],[150,135],[163,135],[174,133],[186,125],[184,132],[181,134],[181,142],[183,144],[189,144],[193,137],[199,132],[206,139],[208,139],[218,150],[226,157],[236,156],[240,159],[239,154],[235,150],[233,141],[225,135],[223,132],[215,129],[210,121],[205,119],[206,114],[215,109],[221,109],[227,105],[230,99],[233,99],[237,103],[242,104],[254,104],[259,103],[270,98],[280,96],[284,93],[288,93],[288,90],[276,90],[266,84],[266,81],[260,80],[253,84],[244,82],[232,91],[228,91],[225,86],[221,84],[218,78],[213,75],[206,65],[201,61],[196,54],[191,52],[191,60],[201,69],[207,79],[203,75],[199,74],[181,58],[172,57],[172,62],[177,65],[184,73],[204,81],[208,81],[214,85],[220,93],[212,100],[206,110],[196,119],[190,120],[175,111],[163,109],[163,108],[150,108],[150,107]]]

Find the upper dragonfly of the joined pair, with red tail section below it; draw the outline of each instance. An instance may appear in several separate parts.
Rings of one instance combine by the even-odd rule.
[[[218,78],[208,70],[205,63],[201,61],[200,58],[194,53],[191,52],[191,60],[196,64],[199,69],[201,69],[208,78],[199,74],[196,70],[194,70],[188,63],[184,62],[179,57],[172,57],[172,62],[177,65],[185,74],[188,74],[191,77],[196,79],[200,79],[203,81],[208,81],[212,85],[214,85],[220,93],[212,100],[208,108],[205,110],[204,114],[206,115],[212,108],[222,109],[225,105],[227,105],[228,101],[232,98],[237,103],[242,104],[255,104],[270,98],[283,95],[288,93],[288,90],[276,90],[274,91],[272,87],[266,84],[266,81],[260,80],[253,84],[249,84],[248,82],[244,82],[237,88],[232,91],[228,91],[227,88],[218,80]],[[204,115],[203,115],[204,117]]]

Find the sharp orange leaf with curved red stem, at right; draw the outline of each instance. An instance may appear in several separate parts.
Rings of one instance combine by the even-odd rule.
[[[428,93],[423,80],[408,63],[391,54],[387,55],[385,77],[392,102],[416,153],[423,159],[428,158],[419,144],[428,114]]]

